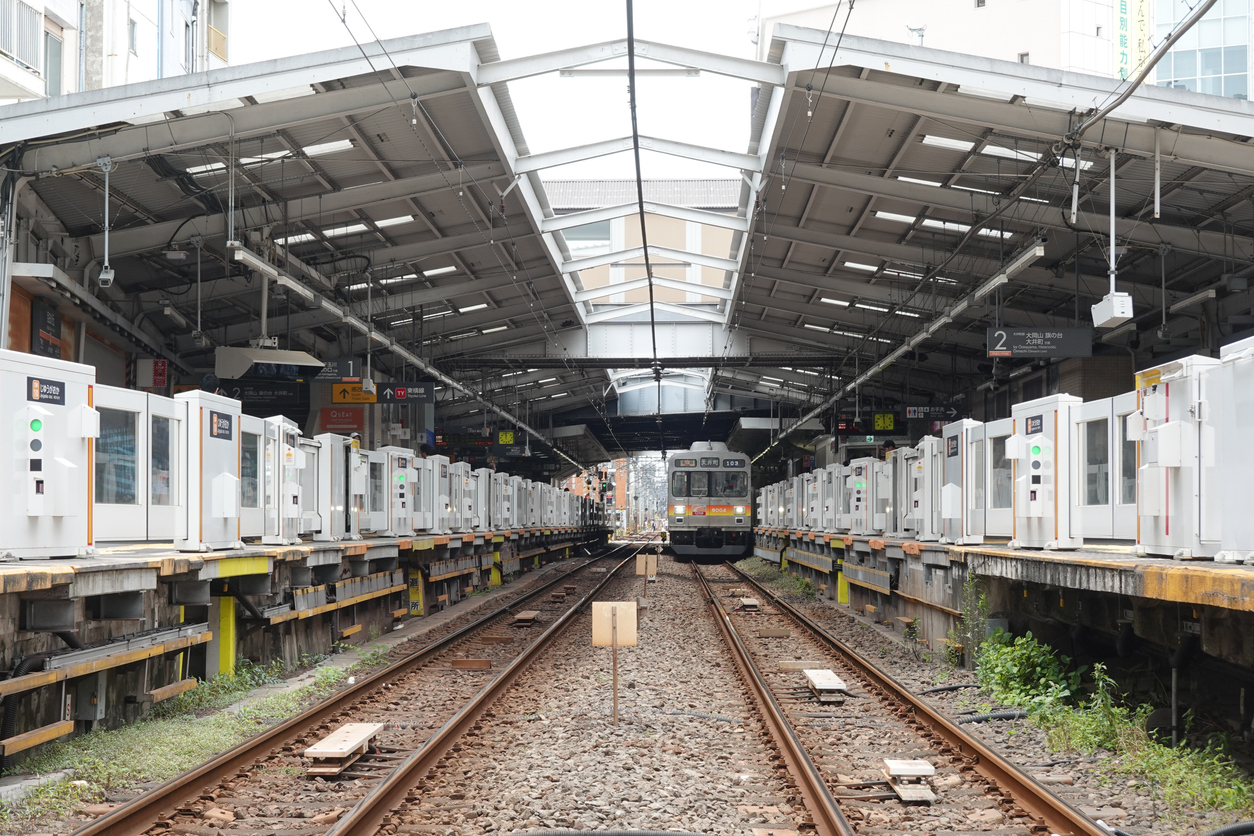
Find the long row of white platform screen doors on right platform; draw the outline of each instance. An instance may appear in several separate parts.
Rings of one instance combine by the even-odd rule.
[[[1048,395],[766,485],[755,510],[770,530],[1254,564],[1250,437],[1254,337],[1140,371],[1112,397]]]

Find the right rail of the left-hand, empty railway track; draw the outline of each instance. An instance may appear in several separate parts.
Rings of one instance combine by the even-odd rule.
[[[638,553],[645,548],[645,545],[647,545],[647,541],[640,544],[636,548],[636,551]],[[401,761],[386,778],[366,793],[366,796],[359,801],[352,810],[346,812],[344,817],[341,817],[340,821],[337,821],[322,836],[375,836],[387,815],[405,801],[414,785],[418,783],[418,781],[453,748],[453,745],[456,743],[463,734],[470,731],[483,718],[488,708],[492,707],[497,699],[500,698],[510,688],[510,686],[518,681],[518,677],[520,677],[530,663],[539,656],[540,651],[548,647],[563,629],[569,627],[576,613],[583,609],[583,607],[587,605],[593,597],[596,597],[606,587],[606,584],[614,578],[618,570],[627,565],[630,560],[631,556],[626,558],[622,563],[611,569],[606,574],[604,580],[581,598],[579,603],[566,610],[556,622],[553,622],[553,624],[551,624],[539,638],[532,642],[530,647],[523,651],[513,662],[509,663],[509,667],[500,672],[500,676],[494,677],[492,682],[485,684],[479,693],[470,699],[470,702],[463,706],[456,714],[440,726],[440,728],[431,734],[430,738],[428,738],[426,743]]]

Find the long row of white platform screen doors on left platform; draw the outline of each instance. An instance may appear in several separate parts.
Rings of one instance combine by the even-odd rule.
[[[164,397],[95,382],[92,366],[0,350],[0,556],[179,551],[245,541],[604,529],[606,503],[403,446],[305,436],[206,391]]]

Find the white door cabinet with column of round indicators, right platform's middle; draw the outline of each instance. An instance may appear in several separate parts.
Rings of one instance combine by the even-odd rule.
[[[1078,549],[1080,496],[1073,488],[1072,439],[1081,399],[1050,395],[1011,407],[1014,442],[1014,538],[1011,548]]]

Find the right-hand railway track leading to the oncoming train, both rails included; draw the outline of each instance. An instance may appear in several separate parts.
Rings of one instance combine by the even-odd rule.
[[[818,836],[917,833],[935,823],[999,836],[1106,836],[1096,822],[750,577],[726,564],[693,567],[693,573]],[[742,604],[742,598],[754,598],[757,607]],[[845,687],[815,689],[801,667],[831,671]],[[928,786],[935,801],[922,806],[899,800],[884,773],[885,760],[927,761],[935,770]]]

